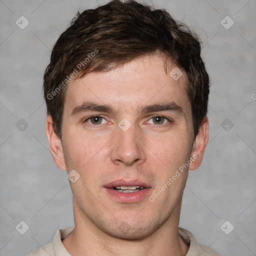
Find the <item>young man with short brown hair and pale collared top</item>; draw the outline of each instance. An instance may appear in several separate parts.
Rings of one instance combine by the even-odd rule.
[[[30,256],[219,255],[178,227],[188,170],[208,141],[196,35],[165,10],[110,1],[60,35],[43,88],[75,225]]]

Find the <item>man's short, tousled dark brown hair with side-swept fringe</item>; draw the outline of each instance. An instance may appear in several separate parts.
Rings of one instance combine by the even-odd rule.
[[[52,116],[56,134],[61,138],[65,84],[70,78],[108,71],[136,57],[161,52],[186,74],[196,135],[207,113],[209,94],[200,51],[197,35],[164,9],[134,0],[112,0],[78,11],[56,41],[43,77],[47,114]]]

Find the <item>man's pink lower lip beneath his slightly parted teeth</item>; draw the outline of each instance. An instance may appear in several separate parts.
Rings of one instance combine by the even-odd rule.
[[[107,193],[118,202],[133,203],[138,202],[145,198],[145,196],[151,191],[151,187],[140,189],[136,192],[123,193],[117,190],[104,187]]]

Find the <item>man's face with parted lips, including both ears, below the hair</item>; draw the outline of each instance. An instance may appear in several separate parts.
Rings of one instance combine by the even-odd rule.
[[[166,73],[161,57],[144,56],[69,82],[62,141],[50,117],[46,134],[56,164],[80,176],[70,182],[75,221],[125,239],[171,221],[187,163],[200,164],[207,142],[205,120],[194,139],[186,78],[174,80],[173,67]]]

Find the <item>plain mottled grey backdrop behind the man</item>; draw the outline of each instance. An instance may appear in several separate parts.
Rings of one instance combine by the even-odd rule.
[[[55,166],[44,133],[42,75],[53,43],[77,9],[102,3],[0,0],[1,256],[26,255],[73,224],[66,173]],[[200,35],[212,81],[210,139],[201,166],[189,172],[179,225],[220,254],[256,255],[256,1],[153,3]],[[21,15],[29,21],[23,30],[15,24]],[[220,23],[226,15],[234,21],[229,29]],[[16,126],[21,118],[28,123],[23,131]],[[226,118],[234,124],[230,129],[227,123],[229,131],[221,126]],[[29,226],[23,235],[15,229],[21,220]],[[229,234],[220,229],[226,220],[234,226]]]

